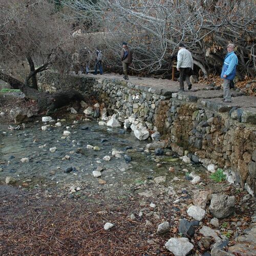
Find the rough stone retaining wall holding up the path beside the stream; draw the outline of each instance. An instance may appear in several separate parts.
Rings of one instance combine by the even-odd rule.
[[[41,79],[41,84],[49,84],[48,79]],[[210,163],[225,167],[230,183],[240,182],[256,195],[256,125],[232,119],[221,108],[207,108],[193,97],[182,99],[175,93],[117,79],[72,79],[75,88],[97,95],[99,102],[118,114],[119,121],[132,117],[135,125],[158,131],[180,156],[188,152],[191,160],[205,167]],[[55,86],[59,87],[58,82]]]

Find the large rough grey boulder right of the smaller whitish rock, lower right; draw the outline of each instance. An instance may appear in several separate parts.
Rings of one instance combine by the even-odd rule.
[[[218,218],[223,219],[233,214],[236,198],[227,195],[213,194],[210,202],[210,213]]]

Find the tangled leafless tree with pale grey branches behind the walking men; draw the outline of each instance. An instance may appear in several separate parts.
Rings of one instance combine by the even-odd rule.
[[[116,66],[122,40],[135,51],[138,72],[168,71],[170,60],[183,41],[195,65],[206,76],[219,72],[227,42],[237,45],[239,73],[255,76],[255,2],[239,0],[70,0],[79,20],[93,22],[92,31],[108,32],[105,47],[112,52],[109,66]]]

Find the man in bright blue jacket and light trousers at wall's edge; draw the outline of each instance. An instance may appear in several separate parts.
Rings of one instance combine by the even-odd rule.
[[[224,59],[224,64],[222,67],[221,78],[224,79],[223,86],[223,101],[231,102],[231,94],[229,89],[230,81],[236,76],[236,68],[238,65],[238,57],[234,53],[234,45],[227,45],[227,55]]]

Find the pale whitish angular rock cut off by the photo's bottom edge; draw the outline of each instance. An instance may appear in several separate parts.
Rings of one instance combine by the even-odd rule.
[[[185,256],[194,248],[194,245],[189,243],[187,238],[171,238],[165,247],[175,256]]]

